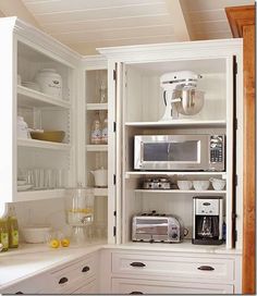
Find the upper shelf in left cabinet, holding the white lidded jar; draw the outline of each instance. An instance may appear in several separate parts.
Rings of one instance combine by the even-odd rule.
[[[17,85],[17,106],[19,107],[59,107],[63,109],[71,108],[68,101],[59,100],[54,97],[45,95],[40,91]]]

